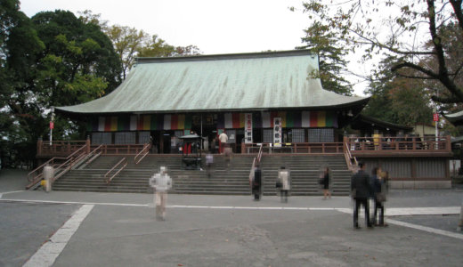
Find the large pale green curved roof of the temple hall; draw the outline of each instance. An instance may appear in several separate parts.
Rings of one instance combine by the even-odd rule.
[[[318,69],[318,56],[308,50],[147,59],[112,93],[56,109],[84,114],[174,113],[327,109],[368,101],[324,90],[319,78],[309,77]]]

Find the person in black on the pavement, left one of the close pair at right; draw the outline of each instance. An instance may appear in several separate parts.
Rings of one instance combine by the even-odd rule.
[[[357,174],[353,174],[351,179],[351,191],[352,197],[355,201],[353,207],[353,227],[359,229],[359,208],[361,205],[365,208],[365,218],[367,220],[367,226],[372,227],[370,222],[370,206],[369,198],[372,195],[372,189],[370,185],[370,176],[365,172],[365,164],[359,163],[360,170]]]

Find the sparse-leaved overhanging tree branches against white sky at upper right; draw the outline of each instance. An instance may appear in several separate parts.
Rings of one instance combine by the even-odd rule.
[[[460,103],[463,88],[455,80],[461,77],[463,59],[451,55],[443,34],[453,24],[456,36],[463,36],[461,4],[462,0],[311,0],[304,7],[337,36],[339,47],[362,53],[365,61],[394,56],[390,68],[395,76],[435,80],[446,93],[433,93],[434,101]],[[426,60],[433,64],[423,64]],[[450,68],[451,61],[457,68]]]

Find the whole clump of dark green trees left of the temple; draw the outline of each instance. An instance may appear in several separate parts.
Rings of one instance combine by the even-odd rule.
[[[1,8],[2,162],[30,166],[37,139],[48,138],[50,107],[109,93],[118,85],[120,64],[102,29],[72,12],[40,12],[28,19],[19,1],[2,1]],[[53,139],[82,139],[82,129],[57,118]]]

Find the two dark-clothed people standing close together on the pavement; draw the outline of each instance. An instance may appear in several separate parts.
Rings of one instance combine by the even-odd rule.
[[[353,174],[351,179],[352,197],[355,202],[353,206],[353,228],[359,229],[359,209],[361,206],[365,209],[365,219],[367,227],[387,226],[385,223],[385,206],[387,175],[381,171],[381,168],[372,169],[371,175],[365,172],[366,165],[359,163],[359,171]],[[370,218],[370,198],[374,202],[373,217]],[[379,218],[377,221],[377,214]]]

